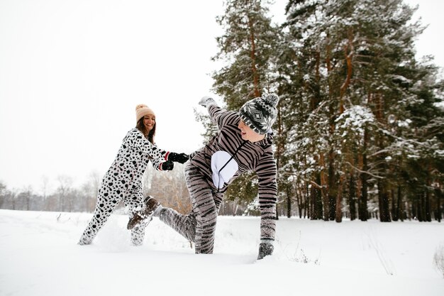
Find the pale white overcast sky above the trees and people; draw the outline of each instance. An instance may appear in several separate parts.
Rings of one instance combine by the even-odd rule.
[[[444,67],[443,1],[406,2],[430,24],[418,55]],[[193,110],[212,95],[221,13],[223,1],[0,0],[0,180],[39,192],[43,176],[55,189],[60,175],[74,186],[103,175],[136,104],[155,111],[157,146],[199,148]]]

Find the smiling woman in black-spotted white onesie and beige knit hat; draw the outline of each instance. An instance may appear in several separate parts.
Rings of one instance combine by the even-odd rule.
[[[123,201],[130,216],[143,207],[142,177],[149,160],[156,170],[172,170],[173,161],[185,163],[188,160],[184,153],[170,153],[155,146],[155,114],[148,106],[136,106],[135,119],[135,128],[123,138],[116,159],[102,179],[94,215],[79,245],[92,242],[119,202]],[[143,243],[144,236],[145,228],[141,225],[131,230],[131,242],[135,246]]]

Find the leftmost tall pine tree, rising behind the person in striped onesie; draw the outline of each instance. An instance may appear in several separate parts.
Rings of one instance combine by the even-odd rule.
[[[238,110],[264,92],[277,92],[274,53],[279,30],[272,25],[262,1],[231,0],[225,7],[223,16],[217,18],[225,33],[216,38],[219,52],[213,60],[223,60],[226,65],[213,73],[213,89],[223,97],[227,109]],[[225,196],[250,203],[256,187],[255,177],[244,174],[230,185]]]

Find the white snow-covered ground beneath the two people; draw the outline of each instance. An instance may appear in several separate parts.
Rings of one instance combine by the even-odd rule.
[[[214,254],[155,218],[131,246],[113,214],[90,246],[91,214],[0,210],[0,295],[443,296],[433,256],[444,223],[277,221],[274,255],[256,261],[257,217],[218,217]]]

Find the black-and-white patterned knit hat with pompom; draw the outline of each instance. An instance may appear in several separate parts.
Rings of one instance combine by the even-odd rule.
[[[253,131],[265,134],[272,128],[277,117],[277,94],[267,94],[251,99],[239,109],[240,119]]]

